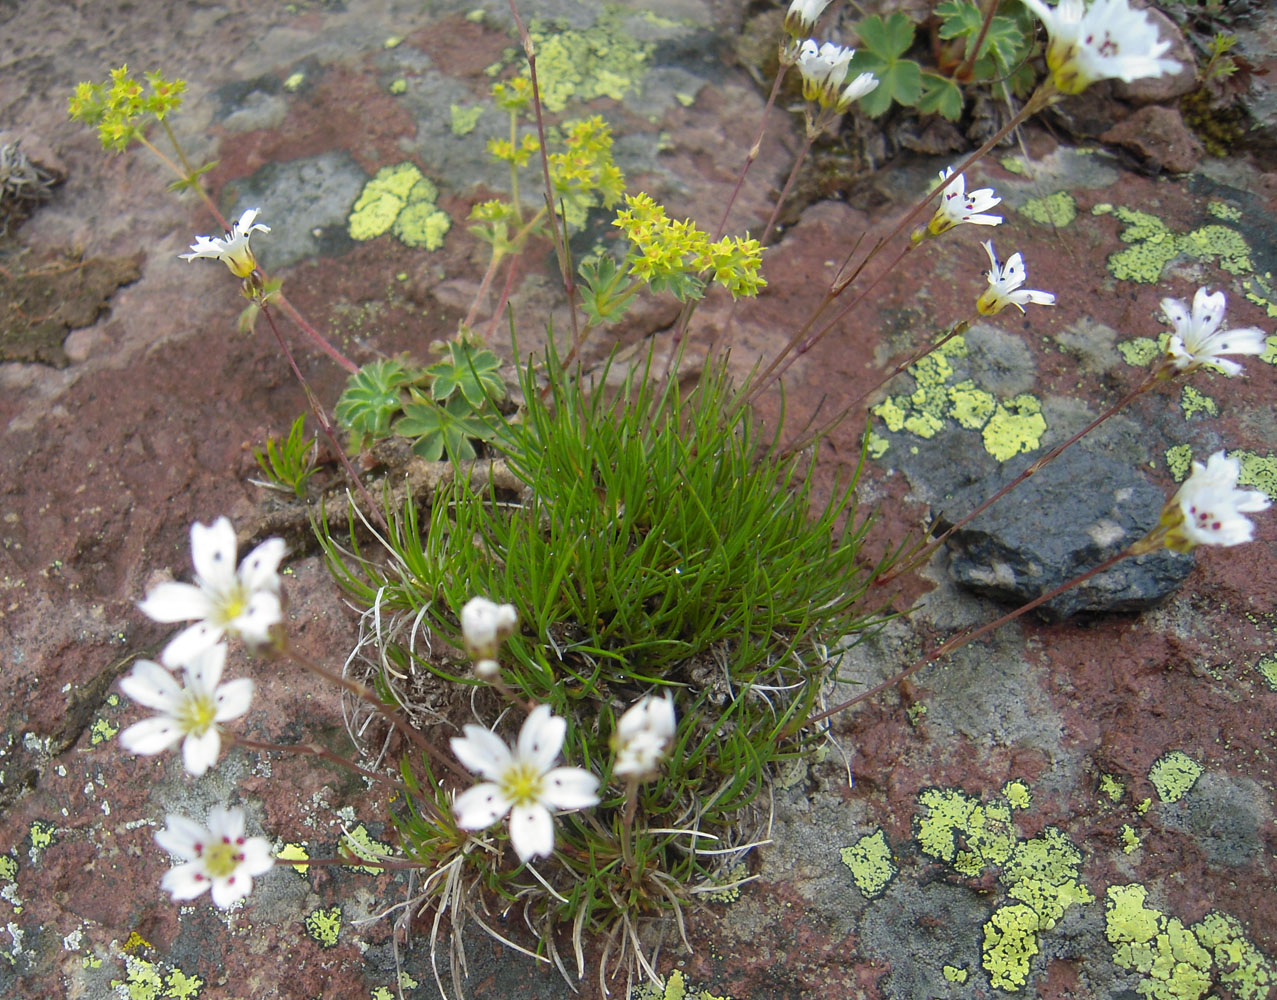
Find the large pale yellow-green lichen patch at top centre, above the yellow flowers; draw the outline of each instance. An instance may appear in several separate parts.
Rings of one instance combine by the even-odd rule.
[[[619,4],[608,4],[586,31],[555,29],[533,22],[536,77],[541,103],[548,110],[562,111],[570,100],[621,101],[638,88],[654,46],[626,31],[627,13]]]

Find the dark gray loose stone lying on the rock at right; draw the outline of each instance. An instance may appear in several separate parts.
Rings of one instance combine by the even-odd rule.
[[[997,475],[953,494],[954,516],[974,510],[1038,456],[1008,462]],[[1157,525],[1161,489],[1124,462],[1069,448],[979,517],[948,545],[955,581],[995,600],[1025,604],[1116,556]],[[941,522],[944,526],[944,522]],[[1191,556],[1161,550],[1128,558],[1037,608],[1045,621],[1078,612],[1148,608],[1172,593],[1193,568]]]

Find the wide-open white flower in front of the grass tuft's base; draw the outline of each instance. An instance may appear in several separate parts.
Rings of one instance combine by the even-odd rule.
[[[563,748],[567,723],[538,705],[518,732],[513,752],[490,729],[465,727],[452,737],[452,752],[487,778],[452,803],[462,830],[483,830],[510,814],[510,843],[520,861],[554,852],[550,810],[577,810],[599,802],[599,779],[581,768],[552,768]]]

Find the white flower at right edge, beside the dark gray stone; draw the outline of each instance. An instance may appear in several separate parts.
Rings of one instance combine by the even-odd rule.
[[[1241,515],[1264,511],[1268,497],[1237,489],[1241,462],[1217,451],[1205,465],[1193,462],[1193,475],[1162,510],[1166,548],[1189,552],[1197,545],[1240,545],[1250,542],[1254,525]]]

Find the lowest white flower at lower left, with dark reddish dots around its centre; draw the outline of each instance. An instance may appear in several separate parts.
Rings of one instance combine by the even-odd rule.
[[[175,902],[194,899],[212,888],[213,903],[226,909],[253,891],[253,879],[275,865],[264,837],[244,837],[243,810],[211,810],[208,829],[175,814],[166,819],[169,825],[156,834],[156,843],[184,863],[169,870],[160,885]]]

